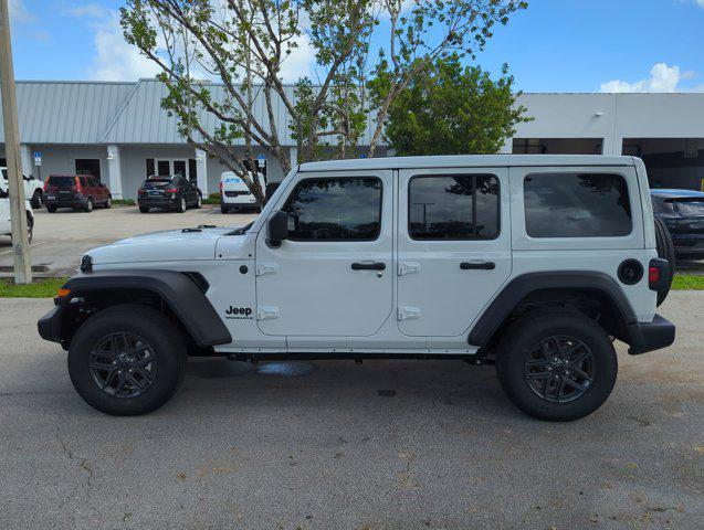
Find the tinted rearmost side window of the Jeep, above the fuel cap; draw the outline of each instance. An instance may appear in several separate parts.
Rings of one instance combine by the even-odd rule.
[[[526,232],[532,237],[617,237],[631,233],[626,179],[607,173],[528,174]]]

